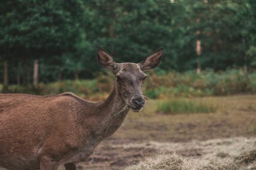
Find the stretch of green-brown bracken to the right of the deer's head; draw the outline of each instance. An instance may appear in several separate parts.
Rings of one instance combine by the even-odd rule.
[[[197,74],[195,71],[169,72],[165,76],[150,72],[145,82],[145,95],[149,98],[166,98],[166,96],[210,96],[236,93],[254,93],[256,91],[256,74],[245,74],[242,70],[231,69],[214,72],[211,70]]]

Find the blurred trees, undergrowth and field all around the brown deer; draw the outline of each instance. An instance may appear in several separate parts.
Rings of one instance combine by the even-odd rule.
[[[114,76],[98,65],[97,45],[117,62],[161,46],[164,56],[146,71],[143,112],[79,169],[123,169],[158,154],[128,169],[181,169],[191,157],[196,167],[185,169],[256,167],[255,1],[1,1],[0,91],[104,100]]]

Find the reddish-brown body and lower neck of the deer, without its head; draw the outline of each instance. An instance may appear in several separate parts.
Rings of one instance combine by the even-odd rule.
[[[58,164],[86,160],[102,139],[120,127],[129,110],[113,117],[115,110],[122,109],[122,100],[105,107],[104,102],[90,103],[72,93],[1,94],[0,103],[6,110],[0,119],[0,165],[7,163],[10,169],[30,169],[31,165],[38,169],[40,155],[54,156]],[[2,107],[7,104],[12,107]],[[10,163],[10,159],[15,161]]]

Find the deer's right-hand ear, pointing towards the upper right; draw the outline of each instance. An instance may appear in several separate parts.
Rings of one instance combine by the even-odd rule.
[[[159,50],[153,52],[147,58],[145,58],[142,62],[139,63],[140,69],[142,71],[148,69],[154,69],[158,66],[161,59],[163,57],[163,47],[159,48]]]

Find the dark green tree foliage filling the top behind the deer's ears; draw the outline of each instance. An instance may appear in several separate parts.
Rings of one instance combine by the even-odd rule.
[[[163,46],[165,72],[195,70],[197,63],[215,71],[255,68],[252,0],[2,1],[0,11],[0,57],[8,59],[11,83],[20,70],[22,83],[31,82],[34,59],[41,82],[93,78],[97,45],[117,62],[140,62]]]

